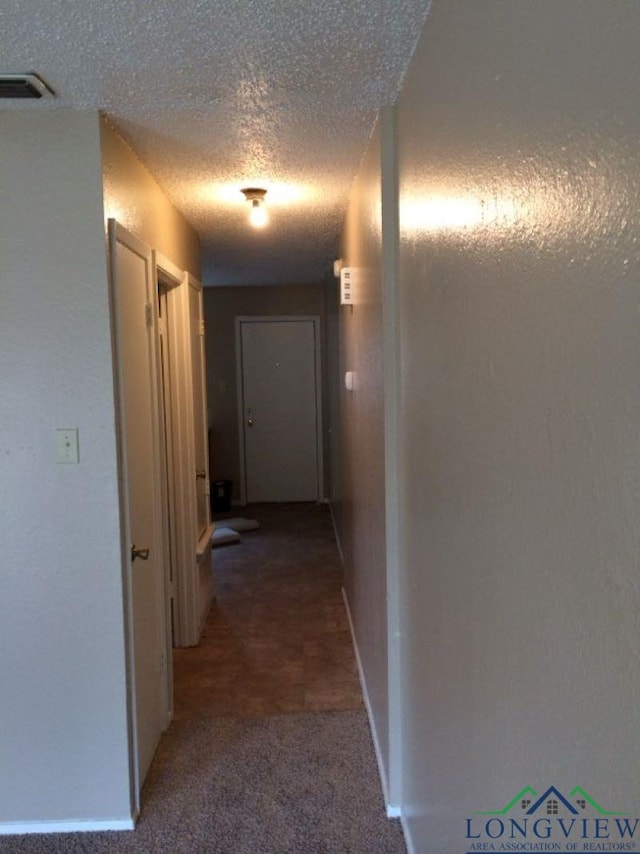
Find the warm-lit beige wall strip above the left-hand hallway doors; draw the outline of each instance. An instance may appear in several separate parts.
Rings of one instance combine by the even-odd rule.
[[[106,119],[101,121],[105,217],[200,278],[200,241],[151,173]]]

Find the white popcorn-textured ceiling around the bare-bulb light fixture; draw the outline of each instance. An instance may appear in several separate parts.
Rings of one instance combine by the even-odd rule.
[[[200,235],[206,284],[323,280],[428,0],[2,0],[2,70],[103,110]],[[247,224],[243,186],[268,189]]]

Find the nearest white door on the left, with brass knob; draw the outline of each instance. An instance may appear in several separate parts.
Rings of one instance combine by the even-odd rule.
[[[151,251],[110,221],[136,793],[166,723],[161,406]]]

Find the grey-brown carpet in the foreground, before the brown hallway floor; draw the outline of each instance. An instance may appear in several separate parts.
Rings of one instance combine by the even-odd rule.
[[[15,854],[403,854],[364,712],[172,724],[135,833],[0,837]]]

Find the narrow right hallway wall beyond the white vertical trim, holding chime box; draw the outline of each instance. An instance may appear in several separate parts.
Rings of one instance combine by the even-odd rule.
[[[370,703],[388,773],[384,401],[382,359],[381,134],[377,127],[352,188],[342,250],[355,268],[353,307],[340,308],[342,376],[341,545],[345,590]],[[334,510],[335,512],[335,510]]]

